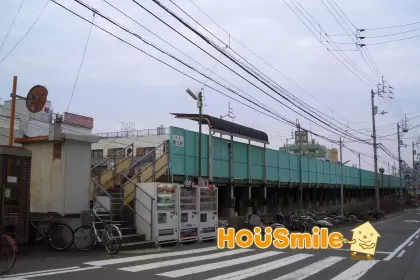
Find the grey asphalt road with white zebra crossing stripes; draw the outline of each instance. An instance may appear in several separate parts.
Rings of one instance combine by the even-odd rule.
[[[6,279],[418,280],[419,210],[373,223],[381,235],[373,260],[352,259],[345,247],[342,250],[218,250],[210,243],[117,257],[108,257],[101,251],[22,257]],[[411,223],[407,222],[410,220]],[[340,229],[347,238],[351,238],[350,230]]]

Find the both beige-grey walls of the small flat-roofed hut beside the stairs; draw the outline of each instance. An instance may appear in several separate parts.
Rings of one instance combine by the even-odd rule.
[[[61,159],[53,159],[53,142],[25,143],[32,151],[31,212],[80,214],[89,210],[91,143],[66,140]]]

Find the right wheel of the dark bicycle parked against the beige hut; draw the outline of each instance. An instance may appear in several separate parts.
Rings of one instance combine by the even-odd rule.
[[[48,245],[56,251],[65,251],[73,245],[74,232],[66,224],[53,223],[47,232]]]

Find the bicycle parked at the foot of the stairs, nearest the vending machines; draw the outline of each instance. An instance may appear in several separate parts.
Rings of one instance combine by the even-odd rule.
[[[119,252],[122,243],[122,234],[120,229],[102,220],[96,210],[92,209],[93,217],[96,217],[104,225],[98,229],[95,226],[95,219],[92,220],[92,226],[80,226],[74,231],[74,246],[80,251],[90,251],[96,244],[101,243],[109,255],[115,255]]]

